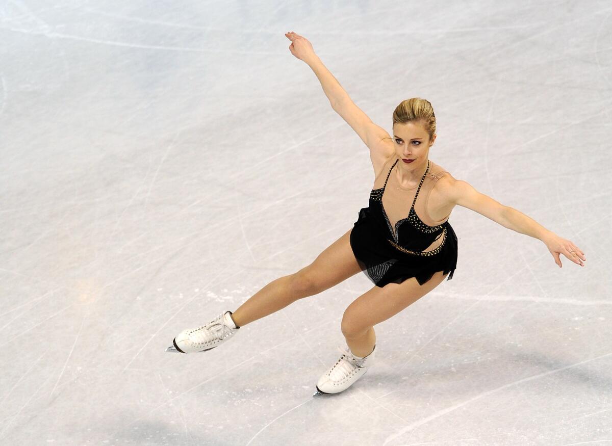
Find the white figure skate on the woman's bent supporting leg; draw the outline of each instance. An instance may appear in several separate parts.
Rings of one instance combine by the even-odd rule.
[[[319,382],[316,384],[318,392],[313,396],[321,393],[340,393],[364,376],[368,368],[374,363],[376,345],[372,352],[363,358],[353,355],[348,347],[345,349],[338,347],[338,350],[342,352],[342,356],[319,378]]]

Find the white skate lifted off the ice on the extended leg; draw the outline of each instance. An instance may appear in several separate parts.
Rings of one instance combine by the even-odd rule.
[[[183,330],[174,338],[173,345],[168,347],[166,352],[195,353],[214,349],[240,329],[231,314],[231,311],[225,311],[203,327]]]

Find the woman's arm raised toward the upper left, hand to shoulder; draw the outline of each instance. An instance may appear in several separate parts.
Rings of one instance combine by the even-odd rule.
[[[380,151],[384,156],[389,156],[388,141],[381,141],[385,138],[391,139],[389,133],[379,125],[374,124],[371,119],[351,100],[345,89],[342,88],[338,80],[323,65],[321,59],[315,54],[312,44],[307,39],[294,32],[285,34],[291,40],[289,51],[297,59],[304,61],[315,72],[316,77],[332,108],[338,113],[348,125],[355,130],[359,138],[364,141],[370,151]],[[384,153],[383,153],[384,152]],[[378,154],[373,154],[378,156]]]

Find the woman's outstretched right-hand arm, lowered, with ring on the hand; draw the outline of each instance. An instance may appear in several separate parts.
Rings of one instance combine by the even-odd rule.
[[[468,182],[454,179],[452,176],[445,176],[438,182],[436,189],[454,204],[474,210],[508,229],[541,240],[553,255],[554,262],[559,268],[561,268],[561,259],[559,258],[561,254],[572,262],[584,266],[583,261],[586,261],[584,252],[573,242],[563,239],[544,228],[520,210],[504,206],[490,196],[480,193]]]

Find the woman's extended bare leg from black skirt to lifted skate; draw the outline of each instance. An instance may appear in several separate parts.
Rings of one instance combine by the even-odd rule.
[[[250,324],[272,314],[297,299],[318,294],[360,272],[349,243],[351,231],[326,248],[298,272],[280,277],[252,295],[231,315],[237,326]]]

